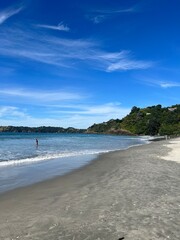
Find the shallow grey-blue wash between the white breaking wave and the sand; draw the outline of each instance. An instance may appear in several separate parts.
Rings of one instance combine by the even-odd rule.
[[[37,160],[32,162],[31,164],[29,164],[29,162],[26,162],[27,159],[17,160],[16,163],[14,163],[14,161],[1,162],[0,174],[2,171],[2,176],[3,175],[8,176],[10,180],[8,178],[7,179],[0,178],[0,181],[2,180],[2,184],[3,184],[2,186],[0,186],[0,194],[5,193],[7,191],[16,190],[18,188],[31,186],[46,180],[51,180],[56,177],[64,176],[73,171],[76,171],[79,168],[83,168],[86,165],[89,165],[93,161],[96,161],[96,159],[100,155],[115,152],[115,151],[127,150],[131,147],[141,146],[145,144],[150,144],[150,142],[148,142],[147,140],[144,140],[144,142],[142,143],[134,144],[126,148],[124,147],[122,149],[104,150],[102,152],[93,153],[93,154],[84,154],[84,155],[79,154],[79,155],[72,155],[71,157],[70,156],[64,157],[64,158],[62,157],[63,159],[62,161],[61,161],[61,158],[60,159],[57,158],[57,159],[53,159],[53,161]],[[31,158],[30,158],[30,161],[31,161]],[[74,166],[72,166],[73,163],[74,163]],[[11,167],[13,168],[11,169]],[[5,169],[4,172],[3,172],[3,168]],[[23,169],[23,170],[21,171],[19,169]],[[24,174],[23,171],[25,172],[26,175]]]

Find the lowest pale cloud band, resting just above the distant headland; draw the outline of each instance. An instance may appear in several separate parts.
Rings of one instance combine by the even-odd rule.
[[[60,106],[59,106],[60,107]],[[55,109],[57,106],[55,107]],[[32,116],[27,110],[13,106],[0,107],[0,126],[60,126],[87,128],[94,123],[108,121],[111,118],[121,119],[130,112],[129,108],[123,108],[118,103],[105,103],[101,105],[71,105],[71,110],[53,110],[53,106],[49,109],[38,109],[38,114]],[[81,109],[81,111],[80,111]],[[44,116],[42,118],[42,115]]]

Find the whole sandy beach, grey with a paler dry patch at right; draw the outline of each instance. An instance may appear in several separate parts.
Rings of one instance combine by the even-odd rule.
[[[0,195],[2,240],[179,240],[179,223],[179,138]]]

